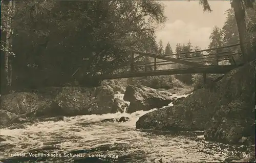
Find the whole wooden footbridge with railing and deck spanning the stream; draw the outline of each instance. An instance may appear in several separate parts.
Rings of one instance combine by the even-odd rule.
[[[97,69],[97,72],[94,73],[97,75],[87,76],[86,78],[87,80],[92,78],[105,80],[160,75],[203,74],[203,80],[205,81],[206,74],[226,74],[231,69],[241,65],[241,63],[236,63],[236,58],[241,58],[241,53],[231,50],[232,47],[239,45],[233,44],[219,48],[167,55],[131,51],[130,54],[127,54],[130,55],[130,60],[115,67],[112,72],[102,73],[101,69]],[[208,52],[208,54],[197,55],[202,54],[202,52]],[[141,59],[143,63],[141,63]],[[140,62],[136,63],[138,60]],[[219,63],[223,61],[228,64],[220,65]],[[112,62],[114,60],[108,64]],[[123,71],[120,73],[118,69],[123,69]],[[76,73],[77,71],[72,76]]]

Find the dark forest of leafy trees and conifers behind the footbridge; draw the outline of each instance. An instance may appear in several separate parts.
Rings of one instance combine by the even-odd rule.
[[[240,42],[244,55],[238,62],[253,60],[255,4],[232,3],[223,28],[212,31],[209,48]],[[210,11],[208,3],[201,4]],[[2,1],[1,7],[1,94],[72,83],[78,68],[76,78],[110,72],[129,59],[131,49],[174,52],[156,41],[155,30],[166,20],[159,1]],[[200,48],[177,42],[175,53],[194,50]]]

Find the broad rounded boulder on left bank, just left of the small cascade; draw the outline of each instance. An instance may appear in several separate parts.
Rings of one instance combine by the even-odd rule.
[[[40,115],[81,115],[110,113],[114,91],[110,86],[94,88],[62,87],[51,107],[38,110]]]

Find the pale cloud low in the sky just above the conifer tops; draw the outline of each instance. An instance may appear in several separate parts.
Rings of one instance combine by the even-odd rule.
[[[175,20],[172,23],[165,24],[165,27],[157,30],[157,41],[162,39],[163,45],[170,43],[173,51],[177,43],[187,43],[188,40],[194,46],[199,46],[201,49],[207,48],[209,44],[209,36],[213,27],[198,27],[193,23],[186,23],[182,20]]]

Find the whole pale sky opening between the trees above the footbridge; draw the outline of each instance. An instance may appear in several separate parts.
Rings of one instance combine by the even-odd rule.
[[[226,15],[225,11],[231,8],[230,1],[208,1],[212,12],[203,12],[199,1],[162,1],[165,6],[167,21],[164,27],[156,31],[157,41],[163,41],[165,48],[170,43],[173,51],[177,43],[187,43],[201,49],[207,49],[209,36],[214,26],[222,28]]]

